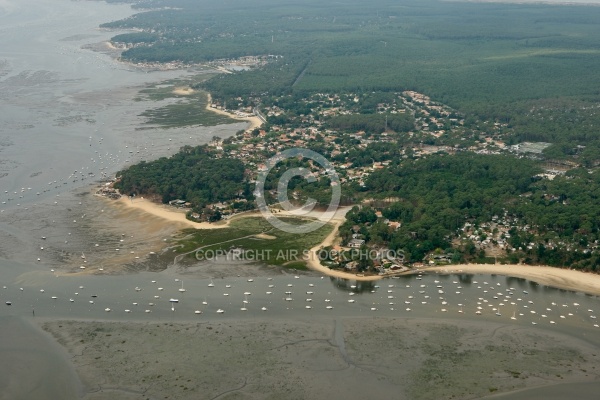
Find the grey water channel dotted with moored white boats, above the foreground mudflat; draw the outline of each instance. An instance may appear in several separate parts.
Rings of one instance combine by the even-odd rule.
[[[500,275],[424,274],[377,282],[312,274],[198,279],[170,270],[61,276],[37,266],[0,265],[0,301],[11,302],[2,304],[0,315],[7,316],[165,322],[307,316],[464,318],[576,332],[600,344],[597,296]],[[478,307],[481,314],[476,314]]]

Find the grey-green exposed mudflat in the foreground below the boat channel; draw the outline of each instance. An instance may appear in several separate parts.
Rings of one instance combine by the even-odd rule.
[[[494,323],[223,319],[43,328],[72,355],[86,400],[471,399],[600,378],[596,345]]]

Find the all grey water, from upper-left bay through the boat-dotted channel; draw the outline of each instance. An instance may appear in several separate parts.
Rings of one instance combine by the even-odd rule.
[[[463,319],[549,330],[600,345],[595,326],[600,322],[593,318],[600,313],[598,297],[524,279],[431,274],[361,283],[289,273],[211,281],[171,269],[80,276],[35,263],[38,254],[3,256],[3,248],[25,249],[32,237],[40,240],[39,232],[8,215],[30,208],[51,219],[55,207],[67,207],[62,198],[74,189],[124,165],[171,154],[183,144],[205,143],[243,125],[136,130],[143,123],[138,115],[152,106],[132,100],[138,90],[189,72],[144,71],[86,48],[116,34],[97,29],[99,24],[131,14],[127,5],[96,1],[0,2],[0,387],[10,388],[0,398],[80,395],[68,357],[31,323],[38,320]],[[71,198],[67,204],[76,203]],[[49,242],[59,230],[45,229]],[[61,235],[62,243],[67,234]],[[548,399],[563,389],[594,398],[597,384],[499,398]]]

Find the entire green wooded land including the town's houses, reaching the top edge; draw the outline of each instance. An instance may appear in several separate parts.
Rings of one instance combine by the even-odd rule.
[[[127,48],[124,60],[222,66],[255,57],[248,70],[193,88],[269,113],[262,130],[222,150],[184,148],[122,171],[124,193],[181,198],[196,211],[236,199],[248,208],[257,166],[300,143],[343,168],[343,200],[360,205],[340,229],[344,242],[389,246],[411,262],[435,253],[598,268],[600,7],[130,2],[139,14],[103,25],[132,29],[112,39]],[[513,148],[525,142],[542,150]],[[275,169],[268,190],[287,167],[311,164]],[[294,179],[288,189],[325,204],[330,184]]]

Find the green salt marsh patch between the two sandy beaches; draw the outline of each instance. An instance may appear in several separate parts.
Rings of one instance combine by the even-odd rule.
[[[302,225],[306,219],[280,218],[282,221]],[[256,261],[286,268],[306,269],[303,255],[321,243],[331,230],[326,224],[314,232],[305,234],[288,233],[274,228],[262,217],[239,218],[223,229],[186,229],[177,239],[177,252],[186,254],[187,260],[201,257],[211,258],[215,252],[229,252],[230,257]],[[262,235],[268,235],[268,238]],[[262,237],[261,237],[262,236]],[[183,260],[182,260],[183,261]]]

